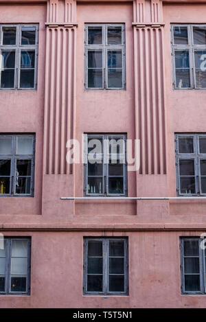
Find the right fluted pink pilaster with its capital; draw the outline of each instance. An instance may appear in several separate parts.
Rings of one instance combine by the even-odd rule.
[[[161,0],[134,0],[135,126],[139,174],[165,174],[165,97]]]

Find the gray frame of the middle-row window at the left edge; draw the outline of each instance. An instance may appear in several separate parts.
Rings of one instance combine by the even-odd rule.
[[[0,134],[1,137],[12,138],[12,154],[0,154],[0,159],[11,160],[10,169],[10,194],[0,194],[0,198],[5,197],[34,197],[34,166],[35,166],[35,135],[21,135],[21,134]],[[16,154],[16,139],[17,137],[31,137],[32,138],[32,154]],[[16,182],[16,159],[20,160],[31,160],[31,187],[30,194],[16,194],[15,182]],[[3,176],[1,176],[3,177]]]

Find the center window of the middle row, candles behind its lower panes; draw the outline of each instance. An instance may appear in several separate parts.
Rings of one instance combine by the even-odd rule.
[[[126,196],[126,135],[84,135],[85,196]]]

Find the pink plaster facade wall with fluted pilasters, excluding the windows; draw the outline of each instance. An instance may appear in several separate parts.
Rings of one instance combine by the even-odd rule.
[[[34,196],[0,196],[0,233],[31,238],[30,294],[2,293],[1,308],[205,307],[204,292],[181,289],[180,240],[205,232],[206,200],[175,198],[174,138],[206,133],[206,92],[174,89],[170,32],[206,25],[205,11],[205,0],[0,0],[1,25],[39,26],[37,89],[0,90],[1,134],[36,136]],[[124,24],[126,89],[85,89],[87,24]],[[140,140],[126,197],[147,200],[61,199],[84,197],[84,164],[66,161],[84,133]],[[127,294],[83,292],[90,237],[128,238]]]

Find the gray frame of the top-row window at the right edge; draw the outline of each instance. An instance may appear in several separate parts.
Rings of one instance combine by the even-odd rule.
[[[188,35],[188,44],[187,45],[176,45],[174,44],[174,27],[187,27],[187,35]],[[195,50],[205,50],[205,45],[194,45],[194,37],[193,37],[193,27],[206,27],[205,24],[172,24],[170,27],[171,31],[171,45],[172,45],[172,85],[173,89],[178,90],[187,90],[187,89],[196,89],[199,91],[205,91],[206,87],[196,87],[196,73],[195,73],[195,58],[194,51]],[[176,71],[175,71],[175,51],[187,50],[189,52],[189,62],[190,62],[190,87],[176,87]]]

